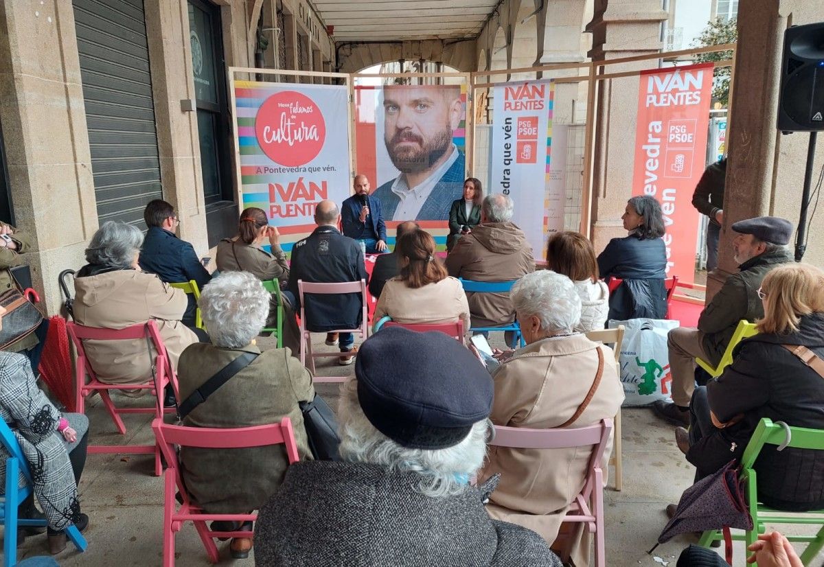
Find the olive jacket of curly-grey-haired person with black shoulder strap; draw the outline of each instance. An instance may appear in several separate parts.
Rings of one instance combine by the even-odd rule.
[[[311,459],[298,402],[315,397],[311,374],[289,349],[260,353],[254,344],[222,349],[198,343],[180,357],[180,400],[242,353],[260,354],[185,417],[192,427],[248,427],[292,420],[301,461]],[[283,445],[238,449],[182,448],[186,487],[210,513],[248,513],[261,508],[280,486],[288,458]]]

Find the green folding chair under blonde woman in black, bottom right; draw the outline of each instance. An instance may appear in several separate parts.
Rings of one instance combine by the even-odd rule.
[[[801,449],[824,450],[824,429],[807,429],[803,427],[789,427],[784,422],[773,423],[771,419],[763,418],[756,427],[756,432],[752,433],[750,443],[744,450],[741,459],[741,476],[744,480],[744,494],[750,507],[753,529],[751,532],[733,533],[733,540],[747,541],[747,546],[758,539],[758,534],[766,531],[765,524],[811,524],[819,526],[820,529],[815,536],[787,536],[789,541],[802,541],[809,545],[801,554],[801,561],[804,565],[810,565],[817,553],[824,547],[824,510],[813,510],[811,512],[784,512],[767,508],[758,502],[758,485],[756,482],[756,471],[753,465],[766,444],[778,445],[779,450],[784,447],[794,447]],[[723,540],[723,535],[719,530],[709,530],[704,532],[698,542],[700,546],[709,546],[712,541]]]

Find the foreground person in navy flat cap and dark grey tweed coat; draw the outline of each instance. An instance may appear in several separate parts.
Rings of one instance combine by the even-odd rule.
[[[341,391],[343,462],[289,466],[260,510],[255,561],[559,566],[536,533],[491,520],[489,487],[470,484],[484,462],[492,396],[489,373],[447,335],[372,335]]]

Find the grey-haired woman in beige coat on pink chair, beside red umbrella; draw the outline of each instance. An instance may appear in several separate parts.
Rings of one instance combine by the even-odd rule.
[[[142,245],[143,232],[119,221],[108,221],[95,232],[86,249],[88,264],[75,274],[74,320],[104,329],[155,321],[171,365],[177,368],[183,349],[208,337],[195,334],[180,321],[186,311],[186,294],[140,269]],[[143,339],[87,340],[84,347],[101,382],[139,384],[152,380],[151,357]],[[166,403],[173,401],[172,396]]]

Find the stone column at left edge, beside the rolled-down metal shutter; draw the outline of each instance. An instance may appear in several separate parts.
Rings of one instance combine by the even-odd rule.
[[[0,122],[16,224],[35,241],[24,258],[58,312],[57,276],[97,229],[71,2],[0,2]]]

